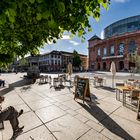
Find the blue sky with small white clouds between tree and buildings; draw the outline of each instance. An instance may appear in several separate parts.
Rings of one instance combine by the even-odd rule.
[[[67,33],[63,35],[63,39],[57,40],[55,44],[45,44],[44,49],[40,49],[40,53],[47,53],[52,50],[63,50],[73,52],[75,49],[80,54],[88,54],[88,39],[93,35],[102,37],[102,32],[105,27],[123,18],[140,15],[140,0],[111,0],[109,10],[101,9],[101,16],[99,22],[90,18],[92,32],[87,32],[85,35],[85,42],[82,43],[81,39],[75,36],[70,39]]]

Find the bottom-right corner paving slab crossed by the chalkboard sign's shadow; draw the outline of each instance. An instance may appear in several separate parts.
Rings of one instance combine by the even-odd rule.
[[[139,139],[140,125],[111,114],[101,124],[112,133],[124,139]]]

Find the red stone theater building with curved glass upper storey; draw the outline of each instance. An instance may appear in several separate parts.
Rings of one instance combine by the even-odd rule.
[[[94,35],[88,40],[89,69],[109,70],[112,61],[117,71],[136,66],[133,54],[140,55],[140,15],[119,20],[104,29],[104,39]]]

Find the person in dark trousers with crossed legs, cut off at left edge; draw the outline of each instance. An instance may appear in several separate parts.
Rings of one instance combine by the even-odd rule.
[[[0,104],[4,101],[4,97],[0,96]],[[24,126],[19,127],[19,121],[18,117],[23,114],[23,110],[21,109],[20,112],[17,112],[17,110],[9,106],[6,109],[2,110],[2,107],[0,106],[0,122],[3,121],[10,121],[10,124],[13,129],[13,136],[12,138],[18,136],[23,131]]]

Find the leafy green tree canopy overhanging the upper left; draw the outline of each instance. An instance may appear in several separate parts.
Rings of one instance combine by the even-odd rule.
[[[84,38],[89,17],[98,20],[109,0],[0,0],[0,65],[36,54],[64,31]]]

